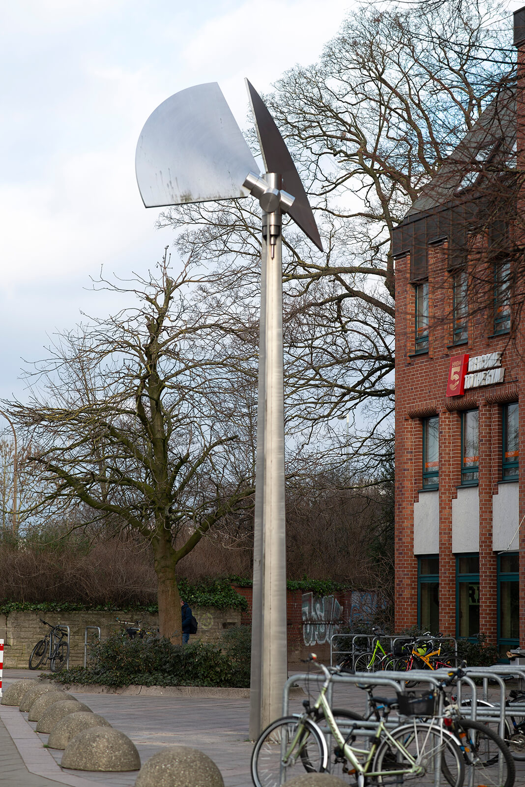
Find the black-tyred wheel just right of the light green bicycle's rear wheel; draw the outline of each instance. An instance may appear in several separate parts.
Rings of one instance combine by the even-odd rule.
[[[457,726],[467,765],[467,783],[512,787],[516,766],[505,741],[483,722],[460,719]]]

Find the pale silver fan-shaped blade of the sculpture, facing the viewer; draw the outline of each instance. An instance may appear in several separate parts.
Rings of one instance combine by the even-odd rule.
[[[242,183],[259,172],[216,82],[188,87],[145,122],[135,155],[146,208],[248,197]]]

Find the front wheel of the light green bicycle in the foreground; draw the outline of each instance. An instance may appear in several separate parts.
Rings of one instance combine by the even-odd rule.
[[[283,716],[262,732],[251,754],[255,787],[279,787],[294,776],[325,770],[325,741],[310,722],[302,724],[300,730],[296,716]]]

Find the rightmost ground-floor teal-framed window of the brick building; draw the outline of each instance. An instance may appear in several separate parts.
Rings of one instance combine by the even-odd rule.
[[[518,552],[497,556],[497,646],[500,656],[519,645]]]

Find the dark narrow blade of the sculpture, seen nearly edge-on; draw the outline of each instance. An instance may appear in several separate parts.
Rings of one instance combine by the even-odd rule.
[[[281,132],[277,128],[274,118],[266,109],[266,105],[255,90],[253,85],[246,81],[248,95],[250,97],[251,111],[255,120],[255,128],[259,137],[262,158],[266,167],[266,172],[277,172],[282,176],[283,189],[292,194],[296,200],[288,210],[292,219],[299,225],[305,235],[310,238],[318,249],[323,250],[318,226],[315,224],[314,212],[310,208],[306,191],[299,178],[299,172],[292,161],[285,140],[281,137]]]

